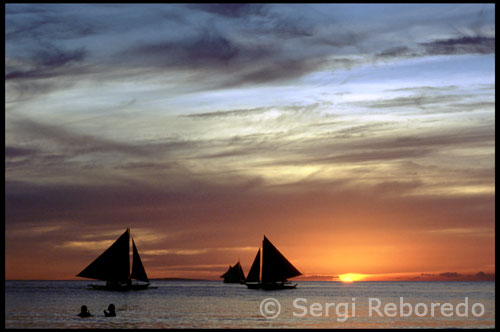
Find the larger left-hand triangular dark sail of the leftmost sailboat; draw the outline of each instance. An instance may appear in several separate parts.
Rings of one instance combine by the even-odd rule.
[[[130,274],[129,229],[105,252],[89,264],[78,277],[110,282],[127,282]]]

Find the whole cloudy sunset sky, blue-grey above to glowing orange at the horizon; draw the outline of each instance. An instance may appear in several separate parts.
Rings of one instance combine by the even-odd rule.
[[[7,279],[494,272],[493,4],[5,8]]]

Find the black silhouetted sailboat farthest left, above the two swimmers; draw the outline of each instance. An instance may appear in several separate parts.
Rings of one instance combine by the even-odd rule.
[[[132,272],[130,272],[130,240],[133,248]],[[89,285],[99,290],[142,290],[149,286],[146,270],[128,227],[106,251],[76,276],[106,281],[105,285]],[[132,279],[146,284],[138,282],[132,284]]]

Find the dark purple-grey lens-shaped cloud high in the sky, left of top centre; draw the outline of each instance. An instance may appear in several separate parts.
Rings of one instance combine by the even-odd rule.
[[[271,35],[272,37],[272,35]],[[117,57],[158,70],[198,69],[198,84],[211,88],[277,82],[301,77],[329,63],[326,54],[290,55],[282,42],[242,44],[213,31],[201,31],[181,41],[159,41],[134,46]],[[297,45],[300,47],[299,45]],[[330,63],[333,63],[330,61]],[[345,63],[336,64],[344,68]]]

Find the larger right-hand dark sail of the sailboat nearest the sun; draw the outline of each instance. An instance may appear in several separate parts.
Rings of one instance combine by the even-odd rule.
[[[301,274],[264,236],[262,243],[262,282],[285,281]]]

